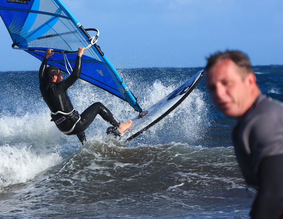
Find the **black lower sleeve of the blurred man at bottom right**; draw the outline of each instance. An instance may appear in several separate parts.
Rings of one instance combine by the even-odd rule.
[[[258,168],[259,190],[252,219],[283,218],[283,155],[264,158]]]

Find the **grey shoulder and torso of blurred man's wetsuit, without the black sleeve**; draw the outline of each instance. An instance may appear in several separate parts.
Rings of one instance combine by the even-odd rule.
[[[260,94],[233,130],[238,163],[248,184],[257,185],[259,163],[283,154],[283,106]]]

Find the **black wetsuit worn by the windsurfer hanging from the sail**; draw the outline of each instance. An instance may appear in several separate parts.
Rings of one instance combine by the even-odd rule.
[[[45,78],[47,59],[44,58],[39,69],[39,89],[42,97],[51,111],[52,121],[57,128],[67,135],[76,134],[83,144],[86,141],[85,129],[92,123],[97,114],[114,127],[119,127],[119,121],[100,102],[93,103],[83,113],[79,114],[73,107],[67,94],[67,89],[80,76],[81,57],[76,57],[72,74],[60,83],[48,82]]]

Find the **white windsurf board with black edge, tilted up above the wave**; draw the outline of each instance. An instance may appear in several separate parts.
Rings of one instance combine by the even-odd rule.
[[[167,116],[182,101],[184,101],[187,96],[189,96],[191,91],[196,87],[200,79],[203,77],[203,73],[204,70],[199,71],[176,90],[165,96],[157,103],[153,104],[147,109],[148,112],[144,117],[138,118],[138,116],[136,116],[133,118],[132,125],[121,137],[119,137],[119,139],[121,141],[132,140]]]

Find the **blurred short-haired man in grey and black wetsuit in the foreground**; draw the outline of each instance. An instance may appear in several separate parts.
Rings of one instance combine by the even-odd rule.
[[[210,96],[219,111],[237,120],[236,158],[247,184],[258,189],[251,218],[283,218],[283,106],[261,93],[242,52],[217,52],[207,61]]]

